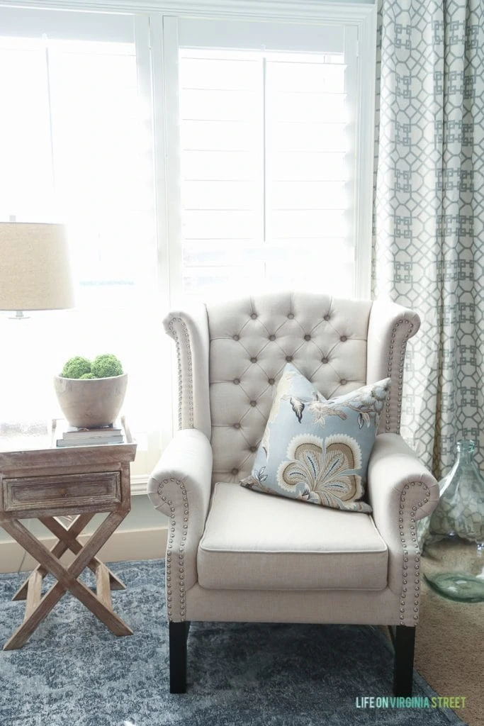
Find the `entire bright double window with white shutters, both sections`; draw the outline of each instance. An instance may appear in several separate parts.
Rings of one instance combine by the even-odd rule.
[[[113,352],[141,481],[172,433],[170,305],[369,294],[374,11],[75,5],[0,7],[0,220],[65,221],[77,281],[73,311],[1,314],[1,419],[55,413],[64,359]]]

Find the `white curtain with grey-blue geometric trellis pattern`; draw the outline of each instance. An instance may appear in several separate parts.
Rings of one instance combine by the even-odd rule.
[[[401,433],[484,469],[484,0],[380,0],[373,293],[416,310]]]

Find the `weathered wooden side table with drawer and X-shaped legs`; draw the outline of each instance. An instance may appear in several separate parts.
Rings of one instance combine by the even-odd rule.
[[[112,610],[111,590],[125,585],[96,555],[131,509],[130,462],[136,443],[125,425],[125,443],[0,451],[0,526],[39,563],[15,593],[26,600],[22,624],[5,643],[4,650],[21,648],[66,591],[86,605],[115,635],[131,635],[131,628]],[[78,541],[97,513],[107,516],[86,544]],[[59,517],[77,515],[69,526]],[[22,524],[37,518],[58,542],[52,550]],[[71,550],[69,566],[62,555]],[[96,576],[97,592],[78,578],[89,567]],[[44,594],[47,573],[57,580]]]

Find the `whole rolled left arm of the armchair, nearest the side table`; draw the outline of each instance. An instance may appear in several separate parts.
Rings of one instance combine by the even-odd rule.
[[[178,431],[148,480],[152,505],[170,519],[166,603],[170,621],[185,619],[185,593],[197,582],[197,550],[211,494],[212,447],[201,431]]]

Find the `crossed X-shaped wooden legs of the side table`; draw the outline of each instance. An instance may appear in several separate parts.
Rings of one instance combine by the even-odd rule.
[[[39,542],[38,539],[36,539],[36,537],[34,537],[20,521],[12,519],[2,523],[4,529],[12,535],[12,537],[14,537],[17,542],[38,561],[38,563],[40,563],[40,566],[36,568],[36,571],[34,571],[31,579],[28,579],[25,619],[4,645],[4,650],[20,648],[67,590],[71,592],[72,595],[75,595],[75,597],[77,597],[83,605],[86,605],[86,608],[89,608],[89,610],[91,610],[91,612],[94,613],[99,620],[112,630],[115,635],[132,635],[133,631],[131,628],[129,628],[126,623],[124,623],[123,620],[121,620],[120,617],[112,611],[110,600],[111,573],[102,562],[97,560],[97,558],[94,558],[94,555],[99,552],[102,545],[107,541],[107,539],[109,539],[111,534],[119,526],[120,522],[123,521],[126,514],[127,513],[124,512],[112,512],[107,515],[107,518],[99,525],[98,529],[84,546],[75,539],[76,535],[74,532],[77,531],[77,528],[74,528],[74,525],[77,521],[73,523],[72,527],[66,529],[54,520],[54,529],[57,529],[57,526],[59,526],[63,530],[62,534],[65,532],[70,533],[69,537],[66,537],[67,541],[65,539],[62,546],[58,548],[57,553],[60,553],[61,550],[63,553],[67,549],[71,549],[73,551],[78,550],[73,563],[71,563],[67,568],[62,565],[59,558],[54,553],[56,552],[56,548],[54,547],[52,552],[48,550],[47,547],[45,547],[42,542]],[[88,515],[85,515],[85,517],[86,516]],[[51,518],[47,519],[52,525]],[[74,544],[75,542],[76,544]],[[90,563],[93,562],[93,560],[96,563],[98,595],[94,595],[94,592],[89,590],[89,587],[86,587],[83,582],[78,580],[78,576],[87,566],[89,566]],[[44,571],[50,572],[54,575],[58,582],[52,585],[44,597],[41,597],[41,582]],[[17,595],[22,592],[23,587],[24,586],[22,585],[20,590],[17,592]],[[15,597],[17,597],[17,595]]]

